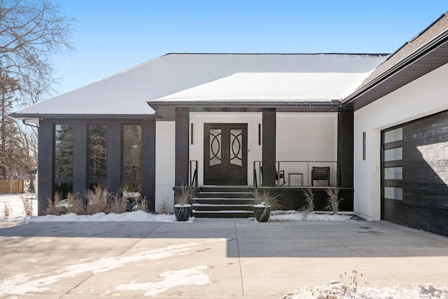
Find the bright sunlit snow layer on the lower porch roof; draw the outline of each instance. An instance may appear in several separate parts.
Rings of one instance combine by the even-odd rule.
[[[367,73],[237,73],[152,102],[330,101],[356,90]]]

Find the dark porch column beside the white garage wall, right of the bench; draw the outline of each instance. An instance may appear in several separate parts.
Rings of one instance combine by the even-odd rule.
[[[353,188],[353,111],[337,113],[337,186]]]

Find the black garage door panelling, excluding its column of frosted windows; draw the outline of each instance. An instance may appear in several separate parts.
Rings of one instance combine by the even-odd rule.
[[[448,236],[448,111],[402,127],[403,199],[384,199],[384,219]]]

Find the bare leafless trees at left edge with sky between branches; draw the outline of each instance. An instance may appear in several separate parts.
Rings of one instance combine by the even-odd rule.
[[[51,58],[74,50],[72,21],[48,0],[0,0],[0,178],[24,178],[37,165],[36,131],[8,113],[57,82]]]

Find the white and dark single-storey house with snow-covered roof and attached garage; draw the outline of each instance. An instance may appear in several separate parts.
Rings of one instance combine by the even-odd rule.
[[[13,113],[38,125],[38,210],[102,185],[312,187],[448,235],[448,15],[391,55],[170,53]]]

